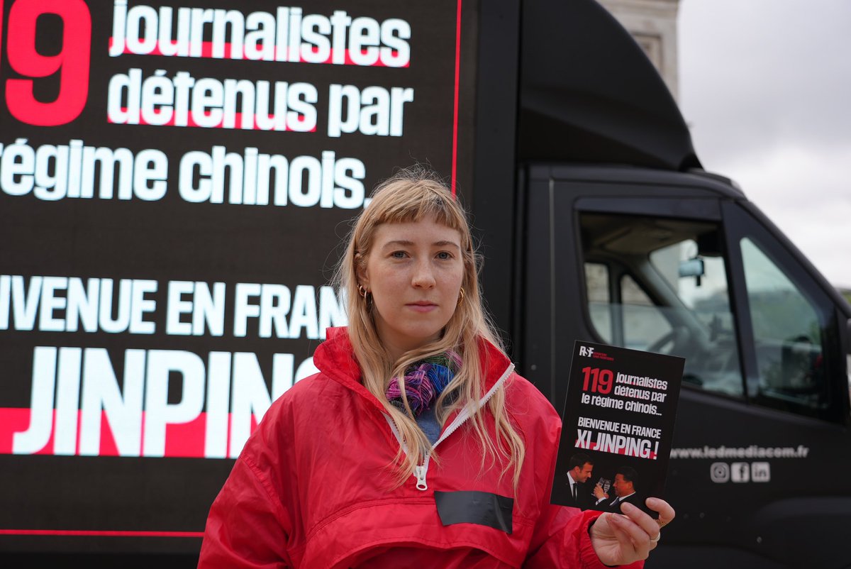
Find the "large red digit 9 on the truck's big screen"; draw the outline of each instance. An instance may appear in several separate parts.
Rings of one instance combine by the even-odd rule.
[[[42,14],[62,19],[62,50],[58,55],[36,51],[36,22]],[[60,72],[55,101],[37,101],[32,79],[9,79],[6,102],[9,112],[23,123],[56,126],[70,123],[83,112],[89,96],[89,59],[92,17],[83,0],[18,0],[9,10],[7,54],[15,72],[43,78]]]

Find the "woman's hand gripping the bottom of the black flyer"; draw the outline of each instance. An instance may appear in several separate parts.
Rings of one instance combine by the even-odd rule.
[[[603,564],[626,565],[647,559],[659,544],[661,526],[674,519],[674,509],[660,498],[648,498],[646,503],[659,512],[659,520],[624,502],[620,504],[623,514],[603,514],[591,526],[591,545]]]

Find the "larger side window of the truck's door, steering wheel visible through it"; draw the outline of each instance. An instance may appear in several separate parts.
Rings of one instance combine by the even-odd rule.
[[[717,224],[597,213],[580,224],[599,340],[685,358],[684,382],[743,398]]]

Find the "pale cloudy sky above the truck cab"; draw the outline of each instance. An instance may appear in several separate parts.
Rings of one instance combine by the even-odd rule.
[[[851,0],[680,0],[677,25],[705,170],[851,289]]]

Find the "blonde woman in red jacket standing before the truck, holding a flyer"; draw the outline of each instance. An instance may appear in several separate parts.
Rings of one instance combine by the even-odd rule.
[[[660,522],[549,503],[559,417],[488,325],[464,211],[437,178],[376,188],[338,270],[349,325],[271,406],[216,498],[199,567],[603,567]],[[400,379],[401,378],[401,381]]]

